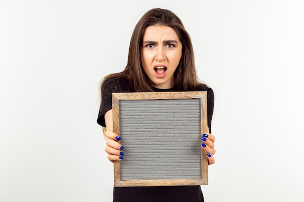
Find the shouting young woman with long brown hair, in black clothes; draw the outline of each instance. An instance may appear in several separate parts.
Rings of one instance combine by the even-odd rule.
[[[111,93],[170,91],[207,91],[209,133],[203,134],[202,147],[209,165],[213,164],[213,91],[197,77],[192,43],[181,20],[169,10],[156,8],[136,24],[125,69],[101,81],[97,122],[106,127],[105,151],[111,162],[124,155],[120,137],[113,133]],[[114,202],[203,202],[201,186],[114,187],[113,196]]]

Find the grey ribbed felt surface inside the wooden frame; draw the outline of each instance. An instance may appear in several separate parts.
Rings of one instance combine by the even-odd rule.
[[[200,99],[119,100],[121,180],[201,178]]]

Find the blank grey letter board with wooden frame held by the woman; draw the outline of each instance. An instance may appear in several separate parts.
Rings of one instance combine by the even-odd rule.
[[[114,186],[207,185],[207,92],[112,93]]]

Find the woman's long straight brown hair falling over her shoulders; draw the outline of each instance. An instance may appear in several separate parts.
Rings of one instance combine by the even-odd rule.
[[[178,35],[182,45],[182,59],[174,72],[174,86],[180,91],[195,90],[199,82],[197,77],[194,53],[190,36],[178,16],[173,12],[154,8],[146,12],[137,22],[129,46],[128,63],[122,72],[104,77],[129,79],[129,92],[151,92],[150,79],[146,75],[141,65],[140,47],[142,46],[145,30],[152,25],[163,25],[172,28]]]

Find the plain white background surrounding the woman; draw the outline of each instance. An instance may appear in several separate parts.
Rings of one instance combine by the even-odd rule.
[[[215,93],[206,202],[303,202],[301,0],[1,0],[0,202],[110,202],[99,82],[149,9],[179,16]]]

